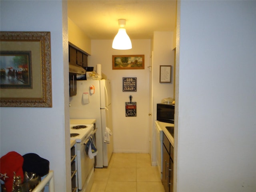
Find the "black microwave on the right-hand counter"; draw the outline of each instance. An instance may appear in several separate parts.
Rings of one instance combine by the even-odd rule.
[[[172,104],[156,104],[156,120],[174,124],[174,108]]]

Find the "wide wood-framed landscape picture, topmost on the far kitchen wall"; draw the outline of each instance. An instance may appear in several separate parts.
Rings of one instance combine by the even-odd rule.
[[[144,55],[113,55],[112,69],[144,69]]]

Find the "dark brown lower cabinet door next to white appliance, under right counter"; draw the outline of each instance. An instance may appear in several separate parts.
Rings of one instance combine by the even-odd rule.
[[[169,188],[170,155],[168,154],[164,144],[163,144],[162,166],[163,166],[162,184],[164,186],[164,191],[170,192],[170,188]]]

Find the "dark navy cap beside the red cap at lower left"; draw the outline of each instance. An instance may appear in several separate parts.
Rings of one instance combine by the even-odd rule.
[[[50,162],[38,154],[28,153],[23,156],[24,162],[22,169],[25,172],[32,172],[42,177],[49,173]]]

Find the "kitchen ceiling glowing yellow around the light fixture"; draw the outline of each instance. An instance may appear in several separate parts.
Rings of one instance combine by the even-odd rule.
[[[126,19],[131,39],[176,27],[176,0],[68,0],[68,17],[90,39],[114,39],[118,19]]]

